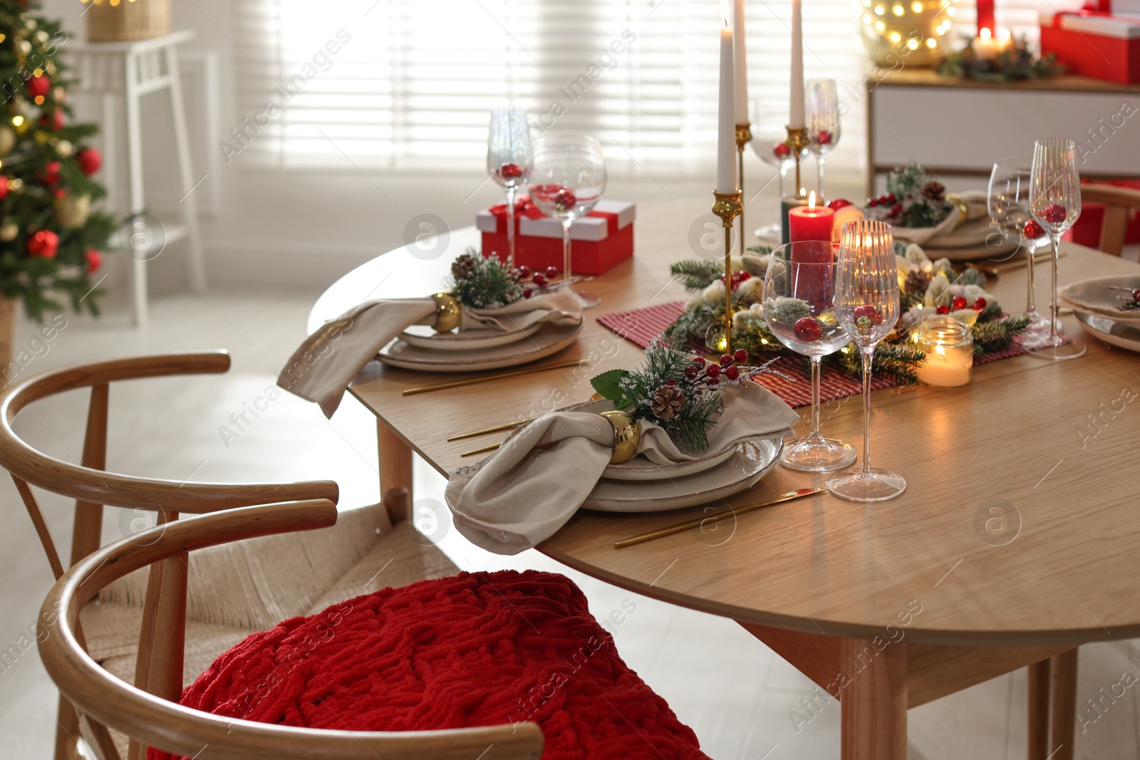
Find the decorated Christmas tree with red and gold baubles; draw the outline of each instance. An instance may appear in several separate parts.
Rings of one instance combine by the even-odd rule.
[[[91,179],[101,158],[87,145],[98,128],[70,121],[71,82],[56,58],[67,35],[39,6],[0,0],[0,312],[23,301],[34,319],[60,310],[59,296],[98,313],[91,275],[116,227],[91,211],[106,197]]]

